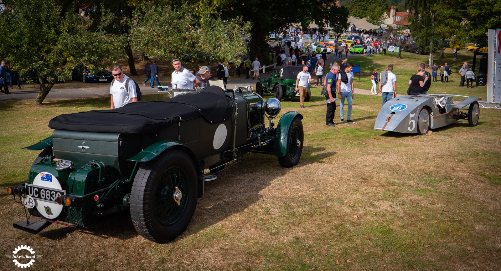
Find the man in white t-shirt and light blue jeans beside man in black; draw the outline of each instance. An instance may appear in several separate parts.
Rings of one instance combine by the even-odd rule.
[[[353,98],[355,98],[355,93],[353,93],[353,64],[350,62],[346,63],[344,71],[341,71],[338,77],[338,98],[341,100],[339,104],[339,113],[341,115],[340,123],[344,122],[344,100],[348,100],[348,114],[346,118],[347,123],[354,124],[355,122],[351,120],[351,105]]]

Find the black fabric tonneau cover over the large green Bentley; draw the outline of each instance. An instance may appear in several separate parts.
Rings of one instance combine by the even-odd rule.
[[[169,127],[178,118],[186,121],[201,115],[207,122],[216,124],[228,120],[232,113],[233,100],[220,87],[210,86],[199,93],[168,100],[59,115],[49,122],[49,127],[84,132],[152,133]]]

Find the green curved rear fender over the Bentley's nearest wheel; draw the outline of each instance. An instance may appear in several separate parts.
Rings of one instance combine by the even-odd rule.
[[[127,161],[134,161],[140,163],[148,162],[157,157],[158,155],[160,155],[167,149],[184,151],[186,154],[189,155],[191,160],[193,160],[193,164],[195,164],[197,181],[198,181],[198,198],[202,197],[203,179],[202,179],[202,169],[200,168],[200,163],[198,162],[195,153],[188,146],[184,145],[181,142],[165,140],[153,143],[148,147],[146,147],[141,152],[139,152],[138,154],[136,154],[134,157],[127,159]]]

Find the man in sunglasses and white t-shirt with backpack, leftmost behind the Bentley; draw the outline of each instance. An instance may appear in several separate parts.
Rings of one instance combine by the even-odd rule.
[[[136,83],[133,80],[129,80],[128,86],[125,86],[129,77],[122,72],[122,67],[120,65],[113,66],[111,74],[115,78],[110,86],[111,109],[137,102]]]

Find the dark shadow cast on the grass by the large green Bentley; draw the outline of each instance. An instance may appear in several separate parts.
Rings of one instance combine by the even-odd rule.
[[[281,167],[274,155],[252,154],[238,165],[221,171],[217,174],[217,180],[204,183],[204,195],[198,199],[188,228],[174,242],[217,224],[257,203],[263,197],[260,191],[269,187],[273,180],[288,174],[289,171],[336,155],[336,152],[324,152],[325,150],[324,147],[304,146],[302,158],[293,168]],[[112,237],[121,240],[138,235],[128,211],[122,212],[112,222],[99,227],[48,228],[39,235],[52,240],[62,240],[73,232],[85,233],[102,239]]]

